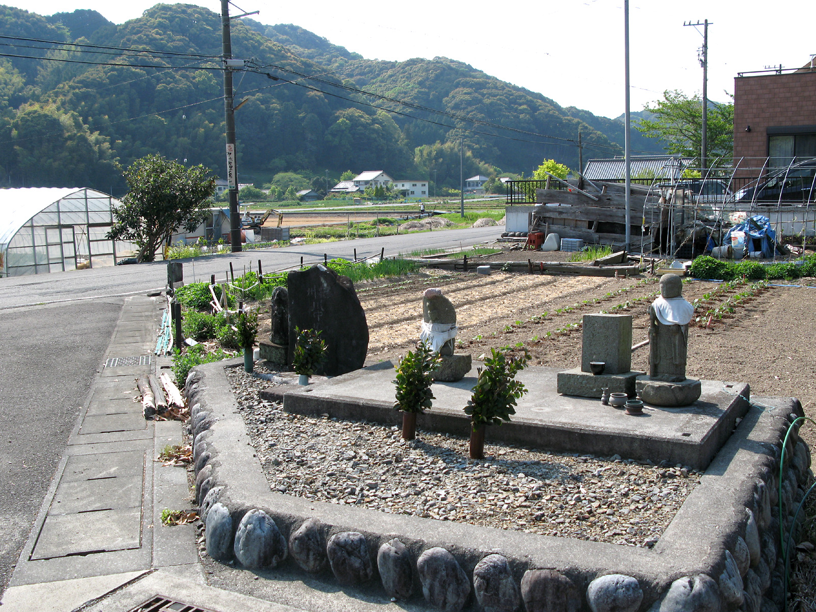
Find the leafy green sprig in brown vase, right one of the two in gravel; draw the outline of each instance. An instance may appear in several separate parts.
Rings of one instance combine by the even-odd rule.
[[[484,459],[486,426],[509,421],[510,415],[516,414],[513,406],[527,392],[521,381],[516,380],[516,374],[525,368],[530,355],[525,351],[520,357],[508,357],[494,348],[490,353],[485,366],[477,368],[477,383],[464,409],[471,419],[471,459]]]

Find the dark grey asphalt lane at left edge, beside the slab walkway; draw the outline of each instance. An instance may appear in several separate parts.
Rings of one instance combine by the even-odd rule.
[[[122,301],[20,308],[0,316],[0,591],[102,365]]]

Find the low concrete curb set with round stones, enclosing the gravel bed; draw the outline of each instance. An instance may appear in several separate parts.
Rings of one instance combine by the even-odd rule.
[[[361,534],[364,545],[344,552],[348,562],[359,567],[376,568],[380,547],[396,537],[412,560],[413,592],[424,593],[426,601],[435,604],[434,593],[455,590],[458,574],[455,568],[441,572],[454,582],[449,580],[438,588],[420,583],[416,560],[431,548],[452,553],[456,565],[468,575],[468,586],[484,557],[496,553],[505,557],[510,582],[514,588],[521,588],[528,610],[539,610],[536,593],[551,588],[563,590],[566,587],[558,585],[564,580],[570,588],[585,594],[580,597],[581,609],[596,612],[608,605],[631,612],[648,610],[652,605],[655,610],[695,610],[694,602],[701,596],[716,601],[718,607],[721,602],[723,610],[735,610],[743,603],[750,604],[747,610],[760,610],[765,595],[781,603],[780,517],[774,504],[782,440],[790,421],[803,414],[796,399],[771,398],[752,404],[700,485],[686,499],[654,549],[649,550],[387,514],[274,493],[250,445],[224,373],[224,367],[241,363],[233,360],[197,366],[185,385],[193,406],[197,501],[206,522],[207,551],[215,559],[234,558],[237,527],[246,512],[258,508],[290,543],[290,552],[292,534],[308,519],[317,521],[312,523],[312,530],[318,555],[331,557],[325,543],[333,536],[342,534],[343,538],[354,539],[354,534]],[[781,520],[790,523],[794,504],[804,494],[800,485],[812,475],[809,450],[796,432],[788,446]],[[747,561],[746,550],[750,553]],[[334,563],[331,566],[337,579],[348,579],[347,574],[335,569]],[[537,572],[539,569],[555,571],[542,574]],[[384,575],[382,568],[379,574]],[[620,575],[613,578],[612,574]],[[363,572],[357,580],[369,576],[377,577],[378,570]],[[638,592],[640,596],[636,596]],[[453,607],[443,607],[476,610],[481,606],[474,603],[481,601],[479,592],[465,596],[463,603],[458,601],[450,603]],[[622,601],[628,603],[623,605]],[[510,603],[507,610],[514,609]]]

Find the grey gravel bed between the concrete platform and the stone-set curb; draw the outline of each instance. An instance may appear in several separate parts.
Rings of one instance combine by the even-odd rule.
[[[486,459],[474,461],[465,437],[418,431],[406,442],[396,427],[289,415],[259,399],[263,379],[240,367],[227,375],[270,489],[306,499],[651,547],[701,476],[665,462],[491,444],[490,428]]]

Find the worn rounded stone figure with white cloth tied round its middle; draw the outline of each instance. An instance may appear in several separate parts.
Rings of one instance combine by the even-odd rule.
[[[441,366],[433,377],[446,383],[455,383],[468,374],[472,366],[470,355],[455,355],[456,309],[441,289],[426,289],[422,296],[422,331],[419,339],[431,344],[442,357]]]

